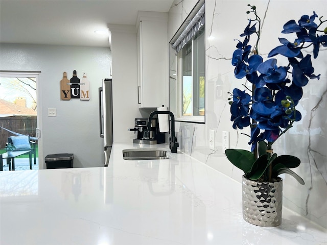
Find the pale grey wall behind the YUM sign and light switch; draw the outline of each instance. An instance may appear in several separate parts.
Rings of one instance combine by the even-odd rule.
[[[44,157],[55,153],[74,153],[74,167],[103,166],[98,88],[102,79],[110,76],[109,48],[1,43],[0,51],[0,70],[41,71],[38,113],[42,115],[43,157],[39,167],[45,168]],[[60,100],[62,74],[66,71],[71,79],[73,70],[79,79],[86,72],[89,101]],[[57,116],[49,117],[48,108],[56,108]]]

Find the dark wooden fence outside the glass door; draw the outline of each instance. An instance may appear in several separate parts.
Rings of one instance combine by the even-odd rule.
[[[0,117],[0,126],[13,132],[36,137],[35,129],[37,128],[36,116],[9,116]],[[8,137],[16,136],[0,128],[0,149],[4,149]]]

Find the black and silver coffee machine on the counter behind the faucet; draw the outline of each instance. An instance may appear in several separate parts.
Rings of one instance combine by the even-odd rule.
[[[137,138],[133,139],[136,144],[161,144],[165,143],[165,133],[159,132],[158,118],[153,118],[151,129],[147,129],[148,118],[135,118],[133,129],[129,131],[137,132]]]

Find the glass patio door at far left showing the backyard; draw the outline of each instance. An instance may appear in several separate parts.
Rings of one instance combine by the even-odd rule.
[[[30,141],[33,142],[31,145],[36,149],[36,164],[33,161],[33,169],[39,169],[38,159],[42,155],[38,130],[39,74],[40,72],[0,72],[0,153],[5,151],[8,137],[29,135]],[[15,169],[30,169],[28,156],[15,158]]]

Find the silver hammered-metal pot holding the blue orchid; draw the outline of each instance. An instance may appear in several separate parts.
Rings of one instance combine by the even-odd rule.
[[[243,219],[263,227],[279,226],[282,223],[283,179],[275,182],[257,182],[242,179]]]

